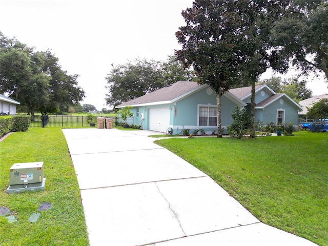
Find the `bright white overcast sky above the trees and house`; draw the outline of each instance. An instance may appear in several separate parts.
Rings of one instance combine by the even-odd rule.
[[[111,65],[135,58],[166,60],[180,46],[186,23],[181,11],[192,0],[0,0],[0,31],[36,51],[51,50],[68,74],[79,74],[83,104],[106,105]],[[270,78],[272,71],[261,78]],[[309,79],[313,95],[328,92],[323,79]]]

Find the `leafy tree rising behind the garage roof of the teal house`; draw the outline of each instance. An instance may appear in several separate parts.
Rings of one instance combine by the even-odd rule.
[[[173,84],[179,80],[194,80],[191,70],[183,69],[173,56],[162,62],[136,58],[114,66],[107,74],[107,105],[117,106],[125,101]]]

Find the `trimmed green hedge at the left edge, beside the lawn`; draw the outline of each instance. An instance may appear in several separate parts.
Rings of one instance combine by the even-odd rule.
[[[31,117],[21,115],[8,115],[0,117],[0,137],[9,132],[25,132],[30,126]]]

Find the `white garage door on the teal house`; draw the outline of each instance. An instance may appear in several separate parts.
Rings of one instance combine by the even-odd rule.
[[[166,132],[170,127],[170,108],[149,109],[149,130]]]

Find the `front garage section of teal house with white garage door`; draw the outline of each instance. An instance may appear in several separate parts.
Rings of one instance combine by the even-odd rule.
[[[127,101],[116,108],[131,105],[134,125],[143,130],[181,134],[183,129],[203,129],[207,134],[217,131],[216,94],[208,85],[178,81],[172,85]],[[227,130],[232,122],[235,106],[246,106],[227,92],[222,96],[222,127]]]

